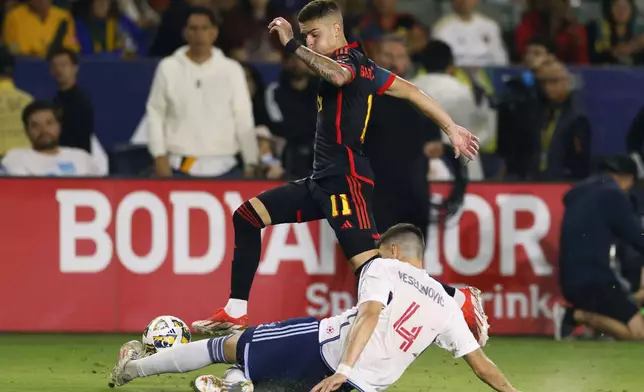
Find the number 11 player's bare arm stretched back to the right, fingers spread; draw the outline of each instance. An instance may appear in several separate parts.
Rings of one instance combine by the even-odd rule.
[[[463,154],[467,159],[472,160],[479,151],[479,139],[467,129],[454,123],[454,120],[447,112],[429,95],[413,83],[396,76],[393,83],[385,94],[396,98],[406,99],[418,108],[423,114],[431,118],[443,132],[449,137],[456,152],[456,158]]]

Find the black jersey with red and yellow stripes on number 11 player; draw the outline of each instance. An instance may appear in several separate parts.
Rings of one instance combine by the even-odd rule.
[[[373,172],[363,153],[374,95],[383,94],[396,78],[364,54],[357,43],[331,56],[351,72],[351,81],[336,87],[322,80],[317,98],[313,178],[352,175],[373,184]]]

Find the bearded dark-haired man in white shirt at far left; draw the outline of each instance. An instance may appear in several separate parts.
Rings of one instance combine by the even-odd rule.
[[[60,120],[55,106],[34,101],[22,112],[22,122],[31,148],[14,148],[2,159],[2,169],[11,176],[102,176],[85,150],[60,147]]]

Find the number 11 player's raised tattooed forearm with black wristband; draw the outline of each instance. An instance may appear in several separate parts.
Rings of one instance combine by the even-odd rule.
[[[293,28],[284,18],[275,18],[268,25],[270,33],[277,33],[280,42],[286,50],[293,52],[300,60],[304,61],[317,75],[336,87],[344,86],[353,80],[351,71],[335,60],[315,53],[311,49],[302,46],[293,39]]]

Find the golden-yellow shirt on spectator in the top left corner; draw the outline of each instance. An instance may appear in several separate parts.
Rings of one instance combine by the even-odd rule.
[[[68,23],[63,46],[78,50],[74,19],[68,11],[55,6],[51,7],[44,20],[32,12],[27,4],[9,11],[2,32],[4,44],[13,54],[45,57],[63,21]]]

